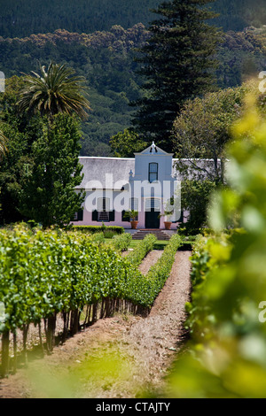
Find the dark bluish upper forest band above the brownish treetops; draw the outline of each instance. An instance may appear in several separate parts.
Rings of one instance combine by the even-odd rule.
[[[24,37],[59,28],[88,34],[109,30],[113,25],[146,25],[153,19],[150,10],[158,4],[160,0],[1,0],[0,35]],[[226,31],[260,27],[266,24],[263,6],[265,0],[216,0],[212,7],[220,16],[215,24]]]

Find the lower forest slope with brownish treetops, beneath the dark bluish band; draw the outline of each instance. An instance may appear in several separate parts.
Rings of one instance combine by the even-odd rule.
[[[82,124],[82,155],[109,156],[109,139],[129,127],[140,96],[136,48],[147,39],[143,24],[129,29],[113,26],[92,34],[53,33],[21,39],[0,38],[0,66],[7,78],[38,71],[51,60],[66,63],[85,78],[91,104],[89,119]],[[266,30],[227,32],[219,46],[219,88],[235,87],[266,68]]]

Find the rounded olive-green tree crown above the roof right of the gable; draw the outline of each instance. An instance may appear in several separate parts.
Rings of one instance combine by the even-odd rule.
[[[188,100],[173,125],[176,157],[210,158],[217,166],[217,160],[223,158],[224,148],[231,140],[231,124],[241,116],[246,92],[251,88],[246,83]],[[205,172],[205,168],[203,166],[202,171]],[[195,166],[192,169],[195,170]],[[222,181],[221,167],[210,172],[209,179]]]

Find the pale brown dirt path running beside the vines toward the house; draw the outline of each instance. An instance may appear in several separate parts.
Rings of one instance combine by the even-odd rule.
[[[164,376],[184,343],[184,304],[191,293],[191,252],[178,251],[172,272],[146,318],[117,314],[56,347],[50,356],[0,380],[0,398],[129,398],[163,395]],[[143,273],[157,261],[154,251]]]

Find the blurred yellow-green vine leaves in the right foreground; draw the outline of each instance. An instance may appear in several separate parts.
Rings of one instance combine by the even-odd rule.
[[[230,187],[210,206],[215,234],[193,250],[191,342],[170,377],[171,397],[265,397],[266,129],[254,100],[233,137]],[[231,223],[242,229],[222,233]]]

